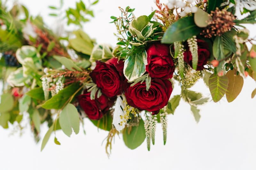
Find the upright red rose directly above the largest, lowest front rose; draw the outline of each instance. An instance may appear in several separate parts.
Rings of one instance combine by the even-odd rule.
[[[148,48],[147,54],[148,65],[146,65],[146,71],[150,77],[162,79],[172,78],[175,67],[168,45],[154,43]]]

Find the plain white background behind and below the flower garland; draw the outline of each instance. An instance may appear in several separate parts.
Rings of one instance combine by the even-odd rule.
[[[58,0],[19,0],[33,14],[41,14],[47,24],[54,25],[48,17],[48,5],[58,5]],[[75,0],[64,0],[65,9],[73,7]],[[94,7],[95,18],[84,26],[84,31],[99,43],[116,44],[114,24],[110,16],[118,16],[118,6],[136,8],[136,16],[148,15],[154,6],[151,0],[100,0]],[[55,22],[56,24],[56,22]],[[250,30],[255,30],[251,26]],[[255,34],[255,31],[254,31]],[[71,169],[171,169],[171,170],[255,170],[256,169],[256,99],[251,99],[255,81],[247,77],[237,99],[228,103],[224,97],[219,103],[210,102],[201,109],[197,124],[185,102],[174,115],[168,117],[167,143],[163,145],[161,125],[157,126],[156,144],[147,151],[144,142],[135,150],[128,149],[116,136],[110,158],[105,153],[108,132],[98,130],[85,120],[86,135],[80,131],[69,138],[57,132],[61,145],[55,145],[53,135],[43,152],[41,141],[35,144],[29,126],[23,135],[11,134],[0,127],[0,170],[71,170]],[[193,90],[209,96],[210,92],[200,81]],[[172,95],[180,94],[176,85]],[[47,131],[41,127],[42,137]]]

